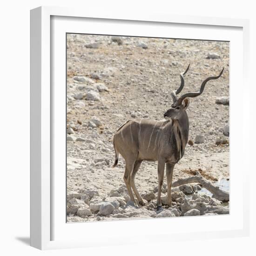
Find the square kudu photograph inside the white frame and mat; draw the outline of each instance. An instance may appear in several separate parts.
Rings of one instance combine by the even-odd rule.
[[[229,214],[229,42],[66,40],[67,222]]]

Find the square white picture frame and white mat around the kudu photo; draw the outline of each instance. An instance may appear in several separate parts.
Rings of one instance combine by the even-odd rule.
[[[97,21],[98,25],[94,21]],[[82,22],[87,22],[87,26],[84,26]],[[102,27],[102,23],[106,26]],[[157,26],[157,29],[154,28],[155,26]],[[177,26],[179,26],[179,29],[175,30]],[[135,29],[135,27],[138,29]],[[57,99],[54,96],[54,90],[57,87],[53,86],[53,84],[57,84],[56,81],[58,81],[59,86],[62,86],[65,80],[66,90],[66,73],[63,73],[66,56],[65,54],[62,55],[63,47],[66,49],[66,41],[63,45],[63,33],[78,33],[80,31],[81,33],[87,32],[87,34],[153,36],[156,33],[154,31],[157,30],[158,35],[162,34],[162,37],[164,37],[164,34],[168,33],[166,28],[171,27],[173,27],[172,31],[174,33],[183,33],[180,36],[178,34],[169,36],[174,38],[193,39],[195,36],[196,39],[207,38],[208,40],[219,38],[230,40],[231,38],[230,109],[235,109],[235,102],[240,99],[240,108],[236,109],[236,115],[242,116],[242,122],[237,124],[235,114],[233,115],[232,111],[230,112],[230,214],[228,216],[218,216],[218,222],[222,228],[216,225],[216,219],[214,219],[216,216],[199,217],[197,219],[193,217],[174,218],[173,220],[165,218],[155,220],[155,222],[152,222],[152,220],[73,224],[64,222],[65,217],[63,216],[65,216],[66,209],[64,208],[64,204],[66,207],[64,194],[66,191],[63,191],[63,188],[65,190],[66,182],[63,179],[63,173],[56,171],[56,166],[60,166],[60,169],[63,168],[61,160],[65,150],[61,145],[63,146],[63,141],[66,138],[66,126],[62,129],[60,127],[63,124],[61,109],[63,109],[63,102],[66,101],[66,98],[63,99],[64,91],[61,91],[59,99]],[[141,34],[142,29],[144,34]],[[105,33],[101,31],[105,31]],[[216,31],[219,31],[218,36],[216,36]],[[58,44],[58,49],[54,48],[54,44]],[[249,114],[247,114],[243,105],[243,99],[246,97],[245,91],[247,94],[249,92],[247,82],[249,70],[248,45],[249,20],[162,15],[159,13],[108,14],[104,13],[104,10],[101,13],[99,10],[84,11],[79,8],[63,7],[38,7],[31,10],[31,246],[38,249],[64,249],[108,244],[131,244],[136,243],[136,239],[131,241],[125,238],[130,236],[132,229],[136,229],[136,236],[140,237],[140,243],[164,242],[170,238],[173,239],[172,241],[186,241],[191,239],[193,235],[196,235],[197,239],[248,236],[249,198],[246,195],[249,193],[247,189],[249,188],[249,156],[245,149],[249,148],[249,134],[246,133],[243,127],[243,123],[249,123]],[[234,54],[235,50],[236,54]],[[51,71],[51,65],[55,65],[54,71]],[[239,70],[240,72],[238,72]],[[246,88],[246,90],[239,91],[239,83],[240,87],[243,84],[243,88]],[[58,101],[58,104],[56,104],[56,101]],[[65,112],[65,108],[62,111]],[[57,113],[60,113],[60,119],[56,115]],[[65,135],[62,132],[54,133],[56,127],[60,128],[59,130],[62,132],[64,131]],[[236,132],[239,130],[242,131],[243,140],[233,143],[232,138],[236,137]],[[58,148],[58,154],[56,154],[56,148]],[[241,158],[241,155],[237,155],[239,148],[240,151],[242,148],[243,161],[232,163],[237,157]],[[241,167],[243,167],[243,173],[238,176],[236,170],[238,171]],[[234,175],[232,175],[232,172]],[[240,184],[243,193],[236,189],[239,178],[243,180],[243,185]],[[60,202],[57,202],[56,198],[60,197],[61,200],[58,200]],[[238,209],[237,200],[243,201],[242,209]],[[171,229],[158,229],[158,227],[167,227],[170,224]],[[82,232],[85,225],[87,225],[87,232],[86,234],[81,233],[84,235],[81,239],[72,240],[71,237],[68,237],[68,234],[73,234],[74,230]],[[101,230],[105,229],[111,229],[112,233],[104,234],[104,232],[101,232],[101,235],[98,235]],[[127,229],[127,232],[123,235],[115,235],[115,229]],[[161,236],[161,238],[152,237],[152,234],[157,230],[158,234],[164,236]],[[94,241],[92,234],[97,235],[96,241]]]

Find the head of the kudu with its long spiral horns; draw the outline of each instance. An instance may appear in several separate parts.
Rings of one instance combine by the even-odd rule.
[[[163,117],[166,118],[166,119],[179,120],[183,116],[183,114],[186,112],[186,109],[189,106],[189,98],[194,98],[194,97],[197,97],[200,94],[202,94],[206,83],[210,80],[218,79],[222,75],[224,67],[222,68],[222,71],[219,75],[210,76],[207,79],[205,79],[202,82],[202,85],[200,87],[199,92],[186,93],[186,94],[183,94],[181,97],[178,98],[177,94],[179,94],[182,91],[183,87],[184,87],[183,75],[186,74],[188,72],[188,70],[189,70],[189,66],[187,67],[185,72],[180,74],[180,78],[181,78],[180,87],[177,90],[172,91],[172,93],[171,93],[171,96],[172,96],[172,99],[173,99],[173,104],[171,105],[171,108],[169,108],[163,115]]]

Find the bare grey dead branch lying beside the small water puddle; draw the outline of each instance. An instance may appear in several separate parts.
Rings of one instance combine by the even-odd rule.
[[[211,182],[205,179],[198,171],[196,172],[195,176],[173,182],[172,187],[178,187],[180,185],[184,185],[188,183],[199,183],[205,189],[209,190],[213,194],[212,197],[222,202],[229,202],[229,193],[226,191],[223,191],[219,187],[214,186]]]

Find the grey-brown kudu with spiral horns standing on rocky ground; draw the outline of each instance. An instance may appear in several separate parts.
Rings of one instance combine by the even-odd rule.
[[[190,64],[189,64],[190,65]],[[113,145],[115,149],[115,167],[118,163],[119,153],[125,160],[124,182],[126,184],[131,201],[135,203],[132,189],[138,199],[138,206],[143,206],[141,195],[135,186],[135,175],[140,168],[142,161],[158,161],[158,195],[156,208],[162,207],[161,189],[166,165],[167,177],[167,203],[171,207],[171,186],[175,164],[179,162],[185,152],[189,138],[189,117],[186,110],[189,106],[189,98],[202,94],[206,83],[218,79],[219,75],[210,76],[202,82],[198,92],[177,95],[184,87],[184,78],[189,70],[180,74],[181,84],[177,90],[171,92],[173,104],[163,115],[166,121],[155,121],[150,119],[134,119],[125,122],[115,133]]]

